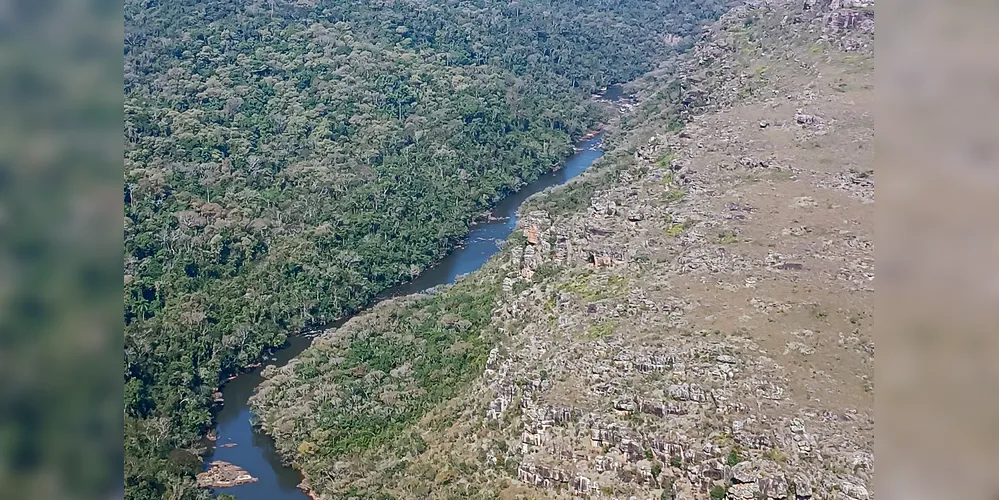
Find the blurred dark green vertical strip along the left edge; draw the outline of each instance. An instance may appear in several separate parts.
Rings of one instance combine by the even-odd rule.
[[[122,5],[0,5],[0,498],[120,498]]]

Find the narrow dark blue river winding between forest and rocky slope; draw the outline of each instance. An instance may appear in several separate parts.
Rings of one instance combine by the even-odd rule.
[[[620,89],[611,87],[606,98],[617,100]],[[456,248],[436,266],[427,269],[412,282],[395,287],[380,298],[398,297],[426,290],[438,285],[453,283],[458,276],[475,271],[497,251],[499,243],[506,240],[517,224],[517,209],[529,196],[547,188],[565,184],[569,179],[583,173],[597,158],[603,155],[599,134],[576,144],[577,152],[569,157],[565,165],[545,174],[538,180],[524,186],[519,192],[499,202],[493,209],[493,220],[474,226],[464,244]],[[337,327],[342,320],[330,327]],[[305,336],[292,337],[288,345],[263,360],[263,365],[282,366],[297,356],[312,339]],[[211,450],[208,462],[223,460],[238,465],[251,475],[259,478],[255,483],[216,490],[240,500],[308,500],[308,496],[298,489],[302,477],[297,470],[281,463],[274,449],[274,442],[266,434],[257,432],[251,425],[253,414],[247,400],[263,380],[261,368],[244,373],[226,383],[222,388],[225,405],[216,415],[217,440]]]

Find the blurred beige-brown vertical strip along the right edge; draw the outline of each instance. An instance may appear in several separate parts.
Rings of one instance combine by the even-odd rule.
[[[999,6],[881,2],[876,494],[999,495]]]

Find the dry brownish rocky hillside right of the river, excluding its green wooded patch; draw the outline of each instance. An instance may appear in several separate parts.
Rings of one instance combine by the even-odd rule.
[[[307,468],[313,489],[871,498],[873,18],[870,1],[747,3],[634,83],[603,166],[531,200],[466,279],[502,283],[481,375],[393,440]],[[265,427],[329,401],[300,371],[268,374]],[[284,424],[293,461],[323,438]]]

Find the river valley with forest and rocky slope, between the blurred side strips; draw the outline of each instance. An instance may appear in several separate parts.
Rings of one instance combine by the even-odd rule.
[[[126,2],[126,498],[871,498],[873,23]]]

